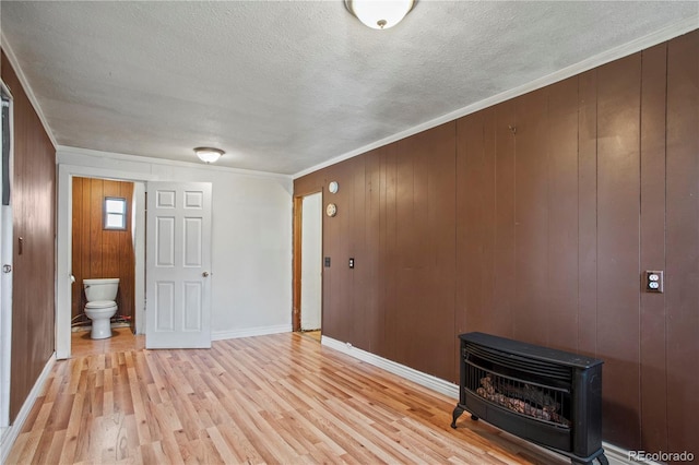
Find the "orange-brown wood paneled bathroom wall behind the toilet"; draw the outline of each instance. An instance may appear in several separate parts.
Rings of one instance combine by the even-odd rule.
[[[103,229],[105,196],[127,200],[126,230]],[[73,178],[73,317],[82,313],[85,308],[83,279],[118,277],[117,314],[130,317],[133,326],[135,257],[131,234],[132,199],[133,182]]]

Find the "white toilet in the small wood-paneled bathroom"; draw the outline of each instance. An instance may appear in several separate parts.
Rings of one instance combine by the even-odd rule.
[[[117,313],[117,291],[119,278],[83,279],[85,289],[85,314],[92,320],[93,339],[111,337],[110,319]]]

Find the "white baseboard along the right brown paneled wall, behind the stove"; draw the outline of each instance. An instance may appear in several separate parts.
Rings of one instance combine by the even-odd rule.
[[[406,367],[393,360],[379,357],[376,354],[371,354],[360,348],[356,348],[350,343],[342,343],[340,341],[333,339],[332,337],[321,336],[320,342],[324,346],[328,346],[337,351],[346,354],[358,360],[366,361],[367,363],[372,365],[375,367],[382,368],[386,371],[390,371],[391,373],[405,378],[408,381],[413,381],[416,384],[431,389],[433,391],[437,391],[438,393],[447,395],[454,400],[459,398],[459,386],[457,384],[450,383],[437,377],[433,377],[431,374],[423,373],[422,371],[417,371],[414,368]],[[513,438],[517,438],[517,437],[513,436]],[[531,445],[532,448],[537,449],[543,453],[555,454],[557,457],[560,457],[559,454],[556,454],[555,452],[552,452],[548,449],[541,448],[525,440],[521,440],[521,442],[523,445],[524,444],[526,444],[528,446]],[[602,449],[604,449],[604,455],[609,460],[611,465],[637,465],[639,463],[639,462],[633,462],[629,460],[629,451],[627,451],[626,449],[621,449],[619,446],[609,444],[604,441],[602,442]],[[661,464],[656,464],[655,462],[643,462],[643,463],[650,464],[650,465],[661,465]]]

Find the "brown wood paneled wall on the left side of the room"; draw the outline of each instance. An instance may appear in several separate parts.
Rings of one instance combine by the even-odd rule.
[[[14,176],[12,361],[10,421],[14,421],[54,354],[56,285],[56,150],[4,52],[2,81],[13,97]],[[22,238],[22,250],[19,241]],[[22,253],[20,253],[20,251]]]

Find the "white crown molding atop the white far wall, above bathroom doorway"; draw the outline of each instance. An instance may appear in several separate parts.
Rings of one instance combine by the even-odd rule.
[[[122,162],[144,163],[150,165],[179,166],[183,168],[209,169],[214,171],[232,172],[235,175],[246,176],[251,178],[281,179],[286,181],[292,179],[291,175],[282,175],[276,172],[256,171],[251,169],[241,169],[241,168],[230,168],[227,166],[203,164],[198,162],[179,162],[179,160],[173,160],[167,158],[149,157],[149,156],[142,156],[142,155],[103,152],[103,151],[95,151],[92,148],[71,147],[69,145],[58,145],[56,147],[57,159],[60,157],[60,155],[81,155],[81,156],[90,156],[90,157],[99,158],[99,159],[109,158],[109,159],[117,159]]]

